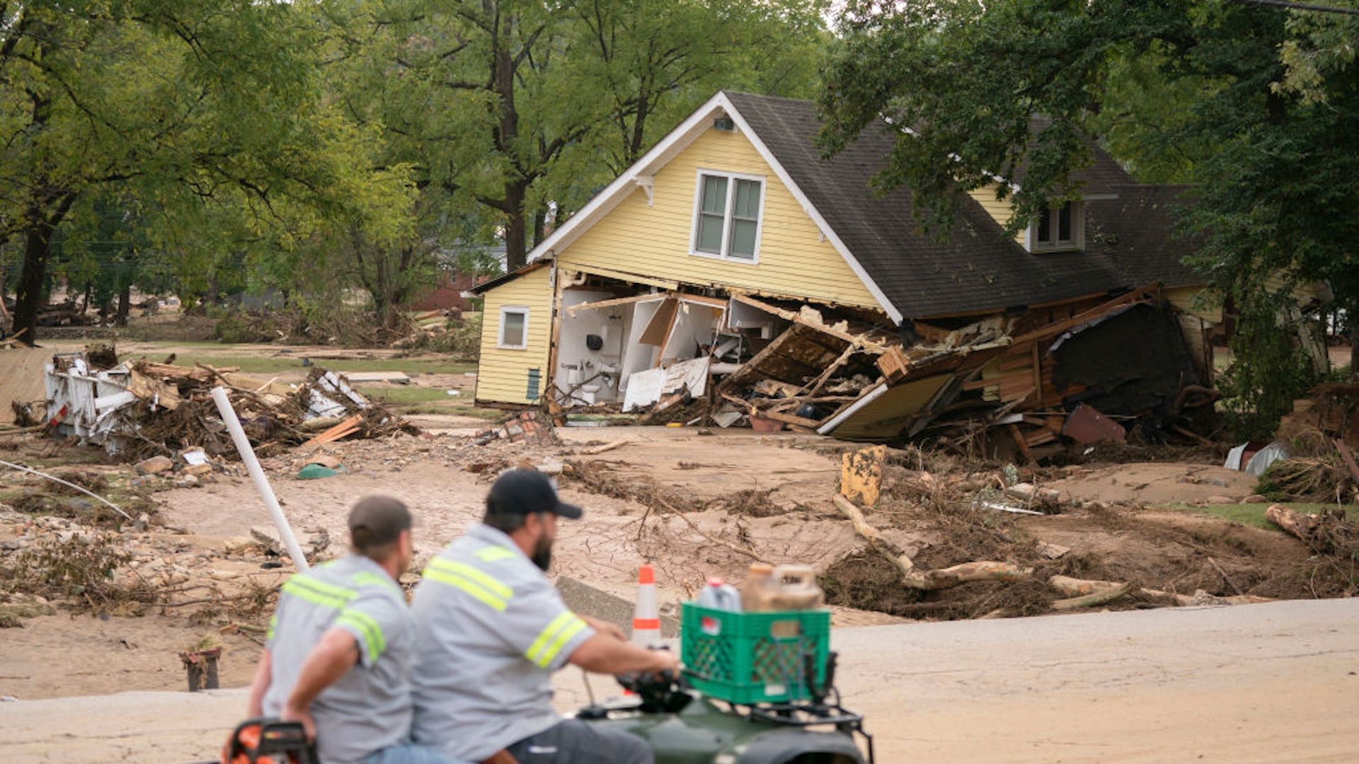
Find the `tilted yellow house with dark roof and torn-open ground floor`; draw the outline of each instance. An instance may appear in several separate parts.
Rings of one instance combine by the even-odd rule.
[[[920,232],[908,190],[870,190],[890,131],[824,159],[818,128],[807,102],[713,95],[529,265],[474,290],[485,299],[477,400],[626,411],[673,389],[686,362],[730,372],[809,307],[830,337],[821,355],[836,358],[862,337],[909,345],[987,317],[1074,314],[1157,277],[1135,254],[1147,237],[1110,235],[1132,219],[1114,189],[1097,189],[1078,223],[1056,211],[1031,241],[1007,237],[983,196],[965,198],[942,243]],[[1121,170],[1109,181],[1133,188]]]

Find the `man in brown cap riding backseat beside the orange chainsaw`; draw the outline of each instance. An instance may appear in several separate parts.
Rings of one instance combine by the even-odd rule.
[[[397,579],[410,567],[410,513],[366,496],[349,538],[352,555],[283,585],[250,716],[302,722],[325,764],[448,764],[409,744],[416,636]]]

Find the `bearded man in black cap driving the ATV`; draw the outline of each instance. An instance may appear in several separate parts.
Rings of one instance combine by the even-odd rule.
[[[552,673],[568,662],[606,674],[678,666],[671,653],[633,647],[617,627],[572,613],[544,575],[557,518],[579,517],[548,476],[510,470],[491,485],[481,523],[425,567],[412,601],[417,744],[467,761],[655,760],[640,738],[552,707]]]

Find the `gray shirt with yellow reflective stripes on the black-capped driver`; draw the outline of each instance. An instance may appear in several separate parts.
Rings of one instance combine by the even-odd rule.
[[[481,761],[541,733],[552,708],[552,673],[593,628],[504,533],[474,525],[429,561],[410,608],[419,745]]]

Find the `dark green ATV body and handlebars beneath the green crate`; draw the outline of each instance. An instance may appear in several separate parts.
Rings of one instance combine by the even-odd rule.
[[[626,676],[618,681],[632,699],[587,706],[576,718],[640,737],[656,764],[872,764],[863,718],[840,706],[832,684],[834,659],[830,653],[825,681],[809,687],[805,701],[728,703],[696,692],[682,676]],[[806,676],[814,682],[815,672]]]

